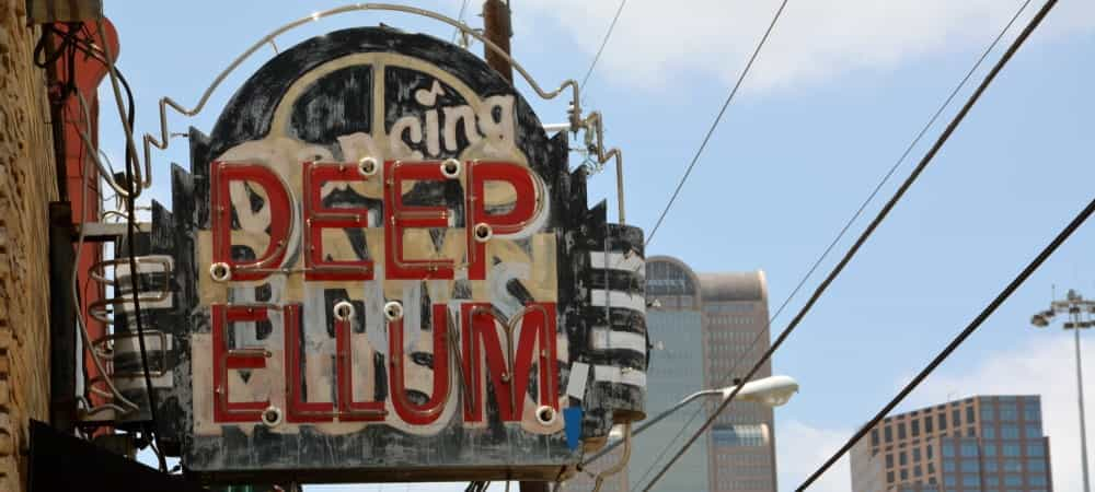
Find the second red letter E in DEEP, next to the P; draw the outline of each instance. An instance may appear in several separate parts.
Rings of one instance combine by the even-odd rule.
[[[407,229],[448,227],[445,207],[403,204],[403,181],[443,181],[440,162],[384,163],[384,277],[393,280],[452,279],[452,260],[403,258],[403,232]]]

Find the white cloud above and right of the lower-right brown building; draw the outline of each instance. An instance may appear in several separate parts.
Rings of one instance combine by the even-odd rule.
[[[989,354],[975,370],[943,373],[927,379],[912,396],[913,407],[937,405],[971,395],[1041,395],[1042,429],[1049,436],[1054,490],[1082,490],[1079,410],[1076,408],[1075,345],[1064,333],[1038,333],[1022,349]],[[1091,366],[1095,351],[1087,337],[1084,354],[1084,394],[1092,401],[1095,384]],[[911,408],[911,407],[910,407]],[[1087,421],[1092,422],[1091,406]],[[1093,443],[1092,429],[1087,442]],[[1090,457],[1088,457],[1090,458]],[[1091,462],[1091,461],[1088,461]]]

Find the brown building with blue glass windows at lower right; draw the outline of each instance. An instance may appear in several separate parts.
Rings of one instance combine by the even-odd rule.
[[[889,417],[852,448],[853,492],[1050,492],[1037,396],[977,396]]]

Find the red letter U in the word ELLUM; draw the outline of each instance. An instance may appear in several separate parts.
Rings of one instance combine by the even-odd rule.
[[[415,405],[407,401],[403,368],[403,320],[388,323],[388,345],[391,356],[392,406],[404,422],[415,425],[433,423],[441,417],[449,399],[449,309],[434,305],[434,393],[429,401]]]

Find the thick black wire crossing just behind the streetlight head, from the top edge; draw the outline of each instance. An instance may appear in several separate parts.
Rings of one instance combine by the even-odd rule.
[[[751,370],[749,370],[749,374],[747,374],[742,378],[742,380],[751,380],[752,377],[757,374],[757,372],[760,371],[761,366],[765,362],[768,362],[769,359],[772,358],[772,353],[775,352],[783,344],[783,342],[787,339],[788,336],[791,336],[791,333],[795,330],[795,328],[803,320],[806,314],[809,313],[810,308],[814,307],[814,304],[816,304],[817,301],[821,297],[821,294],[823,294],[825,291],[832,283],[832,281],[835,280],[838,276],[840,276],[841,271],[844,270],[844,267],[846,267],[848,263],[855,256],[855,254],[858,253],[860,248],[863,246],[864,243],[866,243],[867,238],[871,237],[871,235],[875,232],[878,225],[880,225],[881,222],[886,219],[886,216],[889,215],[889,212],[894,209],[894,207],[901,199],[901,197],[904,196],[906,191],[909,190],[912,184],[915,183],[917,178],[920,177],[920,174],[923,173],[924,168],[926,168],[927,165],[932,162],[932,160],[938,153],[940,149],[943,148],[943,144],[947,142],[947,140],[950,138],[954,131],[966,118],[966,115],[969,114],[973,105],[977,104],[978,99],[981,98],[981,95],[984,94],[984,91],[989,87],[989,85],[996,78],[1000,71],[1004,68],[1004,66],[1007,65],[1007,62],[1012,59],[1012,57],[1015,55],[1018,48],[1023,46],[1023,43],[1026,42],[1028,37],[1030,37],[1030,34],[1034,32],[1034,30],[1041,23],[1041,20],[1045,19],[1046,14],[1048,14],[1049,11],[1052,10],[1053,5],[1056,4],[1057,0],[1048,0],[1046,4],[1042,5],[1041,10],[1039,10],[1038,13],[1035,14],[1035,16],[1030,20],[1030,22],[1023,30],[1023,32],[1019,33],[1018,37],[1016,37],[1015,40],[1012,43],[1012,45],[1007,48],[1007,51],[1005,51],[1004,55],[1000,58],[1000,60],[996,62],[996,65],[992,67],[992,70],[989,71],[988,75],[986,75],[981,84],[978,85],[977,90],[966,102],[963,108],[958,112],[957,115],[955,115],[950,124],[947,125],[947,128],[943,130],[943,133],[935,141],[932,148],[927,151],[924,157],[921,159],[920,163],[917,165],[917,168],[912,171],[912,174],[910,174],[909,177],[906,178],[904,183],[901,184],[901,187],[897,189],[897,191],[889,199],[889,201],[887,201],[886,204],[883,207],[883,209],[879,210],[878,215],[875,216],[875,219],[871,222],[869,225],[867,225],[867,229],[863,231],[863,234],[861,234],[860,237],[855,241],[855,244],[852,245],[852,247],[848,250],[848,253],[844,254],[844,257],[841,258],[840,262],[837,263],[837,266],[829,273],[829,276],[826,277],[826,279],[818,285],[817,290],[814,291],[814,294],[810,296],[810,298],[806,302],[806,304],[798,312],[798,314],[795,315],[794,319],[792,319],[791,323],[787,325],[787,328],[780,333],[780,336],[775,339],[775,342],[772,343],[772,345],[764,352],[763,355],[761,355],[760,360],[757,361],[757,363],[753,365]],[[646,487],[646,489],[644,489],[644,491],[648,492],[658,482],[658,480],[660,480],[661,477],[665,476],[666,471],[668,471],[669,468],[673,464],[676,464],[677,460],[680,459],[680,457],[688,450],[688,448],[691,447],[692,444],[694,444],[696,440],[700,438],[701,435],[703,435],[703,432],[706,431],[707,427],[710,427],[715,422],[715,420],[718,418],[718,414],[722,413],[723,410],[725,410],[726,407],[729,406],[731,401],[734,401],[734,397],[736,397],[740,391],[741,391],[741,386],[739,385],[723,400],[722,403],[719,403],[715,412],[707,419],[706,422],[703,423],[700,430],[696,431],[692,435],[692,437],[689,438],[689,441],[684,444],[684,447],[681,448],[681,450],[679,450],[676,455],[673,455],[673,457],[669,460],[669,462],[666,464],[666,466],[662,467],[660,471],[658,471],[658,475],[656,475],[654,479],[650,480],[650,483]]]

